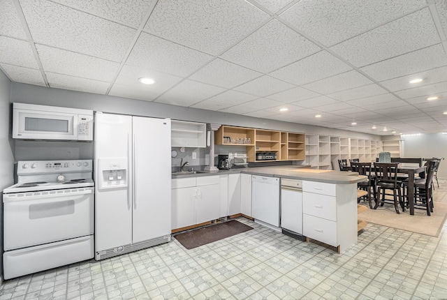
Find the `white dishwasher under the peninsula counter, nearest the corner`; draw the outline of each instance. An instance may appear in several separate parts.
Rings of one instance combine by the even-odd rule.
[[[251,177],[251,216],[279,227],[279,178]]]

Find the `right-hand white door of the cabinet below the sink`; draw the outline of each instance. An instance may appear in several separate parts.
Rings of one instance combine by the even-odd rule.
[[[197,187],[196,223],[200,224],[219,218],[219,184]]]

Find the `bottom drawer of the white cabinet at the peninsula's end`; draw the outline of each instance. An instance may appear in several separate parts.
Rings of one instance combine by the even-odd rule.
[[[337,247],[337,223],[307,214],[302,215],[302,234]]]

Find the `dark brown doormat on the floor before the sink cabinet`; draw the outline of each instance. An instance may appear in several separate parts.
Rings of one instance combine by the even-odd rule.
[[[237,222],[237,220],[230,220],[225,223],[177,234],[174,237],[184,248],[193,249],[252,229],[253,227]]]

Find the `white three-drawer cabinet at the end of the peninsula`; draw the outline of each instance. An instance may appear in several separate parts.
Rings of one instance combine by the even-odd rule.
[[[305,237],[339,247],[357,242],[357,184],[302,182],[302,231]]]

